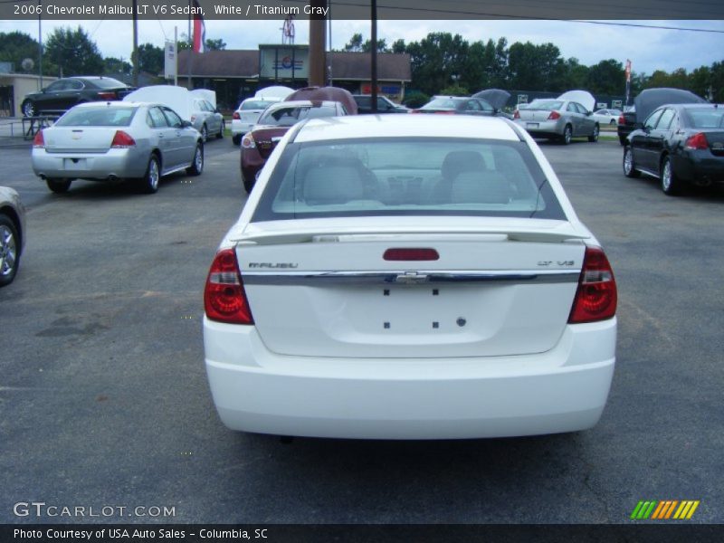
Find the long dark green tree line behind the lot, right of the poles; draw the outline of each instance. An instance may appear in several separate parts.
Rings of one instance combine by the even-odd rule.
[[[419,42],[378,40],[378,52],[406,52],[412,66],[411,89],[431,94],[470,94],[482,89],[544,90],[563,92],[586,89],[593,94],[623,96],[624,63],[614,59],[586,66],[563,58],[554,43],[469,43],[460,34],[428,33]],[[372,43],[355,33],[342,51],[370,52]],[[689,89],[714,101],[724,101],[724,62],[714,62],[691,72],[683,68],[652,74],[633,71],[631,96],[653,87]]]

